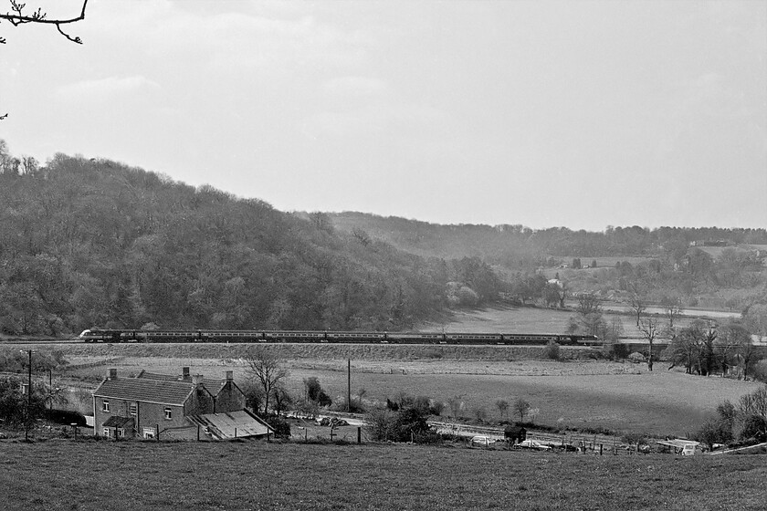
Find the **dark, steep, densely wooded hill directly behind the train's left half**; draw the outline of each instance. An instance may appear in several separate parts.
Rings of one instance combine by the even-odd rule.
[[[0,146],[0,332],[400,329],[498,296],[476,259],[423,258],[259,200],[116,162]],[[467,284],[470,282],[470,287]]]

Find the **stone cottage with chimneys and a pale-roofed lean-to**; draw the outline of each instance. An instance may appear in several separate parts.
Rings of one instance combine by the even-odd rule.
[[[270,433],[266,422],[245,411],[245,394],[236,385],[233,372],[224,380],[205,381],[183,368],[180,376],[141,371],[136,378],[118,378],[117,370],[93,392],[94,433],[107,438],[223,439],[225,428],[215,428],[206,416],[234,414],[237,436]],[[224,433],[220,433],[224,432]],[[234,431],[232,432],[234,433]]]

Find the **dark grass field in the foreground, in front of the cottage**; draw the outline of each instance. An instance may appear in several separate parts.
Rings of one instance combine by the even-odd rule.
[[[0,443],[4,510],[739,509],[764,455],[595,456],[414,445]]]

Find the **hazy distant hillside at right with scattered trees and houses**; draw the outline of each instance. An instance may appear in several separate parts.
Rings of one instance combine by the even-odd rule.
[[[521,225],[439,225],[331,214],[342,231],[424,257],[476,257],[498,269],[514,301],[562,305],[563,292],[746,311],[767,304],[767,230],[639,226],[604,232]],[[599,259],[599,261],[597,261]],[[544,277],[545,276],[545,277]],[[556,277],[562,287],[546,285]],[[559,295],[559,297],[558,297]]]

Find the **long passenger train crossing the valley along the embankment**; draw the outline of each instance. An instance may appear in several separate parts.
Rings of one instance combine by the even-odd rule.
[[[291,342],[348,344],[500,344],[566,346],[599,344],[596,336],[574,334],[506,334],[449,332],[357,332],[331,330],[83,330],[85,342]]]

